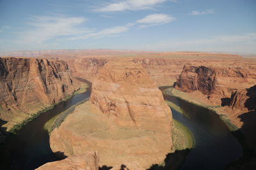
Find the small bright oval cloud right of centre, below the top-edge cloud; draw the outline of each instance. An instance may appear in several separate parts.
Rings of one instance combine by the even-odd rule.
[[[147,15],[146,17],[140,20],[137,20],[136,23],[140,24],[139,27],[150,27],[154,25],[167,24],[169,22],[172,22],[173,20],[176,20],[176,18],[170,15],[152,14],[152,15]]]

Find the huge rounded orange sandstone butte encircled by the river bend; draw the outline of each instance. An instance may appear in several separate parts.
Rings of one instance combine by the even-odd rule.
[[[133,62],[108,62],[93,80],[90,102],[51,132],[50,145],[67,156],[97,150],[99,166],[138,162],[148,168],[170,153],[171,125],[172,112],[147,71]]]

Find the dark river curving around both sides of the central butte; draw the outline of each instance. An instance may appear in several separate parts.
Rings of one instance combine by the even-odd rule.
[[[76,94],[24,125],[10,143],[11,169],[35,169],[46,162],[58,160],[49,146],[44,124],[89,96],[90,90]],[[188,127],[195,138],[195,147],[188,153],[181,169],[223,169],[241,157],[241,146],[216,113],[176,97],[164,96],[164,99],[186,111],[188,117],[171,108],[173,118]]]

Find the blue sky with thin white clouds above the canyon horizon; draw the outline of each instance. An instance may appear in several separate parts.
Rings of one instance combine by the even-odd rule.
[[[256,53],[255,0],[0,0],[0,52]]]

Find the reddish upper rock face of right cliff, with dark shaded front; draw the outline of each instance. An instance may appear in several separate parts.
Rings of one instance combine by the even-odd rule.
[[[246,88],[255,84],[256,73],[250,67],[196,66],[186,64],[175,82],[183,92],[202,92],[213,105],[243,109]],[[239,96],[237,98],[237,96]],[[232,98],[232,99],[231,99]]]

